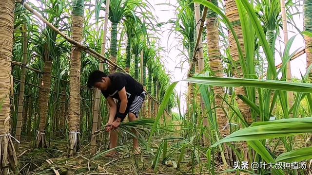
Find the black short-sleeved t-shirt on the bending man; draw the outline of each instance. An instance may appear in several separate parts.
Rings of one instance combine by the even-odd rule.
[[[126,73],[115,72],[108,77],[111,79],[111,86],[106,90],[101,90],[105,98],[109,96],[120,101],[118,92],[125,87],[128,99],[134,99],[136,95],[143,92],[143,86],[132,76]]]

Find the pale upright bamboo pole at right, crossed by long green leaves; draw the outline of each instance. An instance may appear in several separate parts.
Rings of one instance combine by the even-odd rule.
[[[283,33],[284,33],[284,43],[285,46],[288,43],[288,29],[287,29],[287,18],[286,18],[286,8],[285,8],[285,0],[281,0],[281,11],[282,11],[282,20],[283,20]],[[292,70],[291,70],[291,62],[287,63],[287,81],[292,81]],[[293,92],[288,92],[288,105],[292,107],[293,105]],[[292,116],[292,113],[290,114]]]

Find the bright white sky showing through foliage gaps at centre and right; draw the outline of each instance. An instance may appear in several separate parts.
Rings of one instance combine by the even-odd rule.
[[[150,1],[151,2],[151,1]],[[171,3],[176,5],[176,0],[153,0],[154,4],[154,9],[155,9],[155,16],[158,18],[158,22],[166,22],[170,18],[175,17],[175,9],[172,6],[166,5],[165,3]],[[152,3],[152,2],[151,2]],[[302,6],[297,7],[299,9],[299,12],[302,13]],[[295,21],[295,26],[300,30],[303,31],[303,15],[295,15],[293,17]],[[170,29],[170,25],[164,26],[164,31],[167,29]],[[305,47],[304,44],[304,39],[301,35],[298,35],[299,32],[292,27],[291,25],[288,25],[288,37],[289,39],[295,36],[295,39],[292,44],[292,48],[290,50],[290,53],[295,52],[297,49],[303,49]],[[279,38],[278,41],[276,41],[275,47],[278,51],[283,51],[284,50],[284,36],[282,33],[282,30],[280,30],[280,35],[281,38]],[[164,52],[163,55],[163,60],[166,61],[167,63],[165,64],[166,70],[172,74],[171,80],[172,82],[182,80],[184,78],[187,78],[187,71],[189,69],[189,65],[187,63],[183,64],[183,68],[177,68],[178,63],[180,62],[182,58],[181,56],[178,56],[180,51],[178,49],[181,49],[181,46],[178,46],[175,49],[171,49],[171,45],[181,45],[178,43],[176,40],[176,35],[168,35],[168,32],[163,32],[160,36],[161,39],[161,45],[162,47],[166,48],[167,52]],[[170,51],[170,52],[169,52]],[[279,56],[279,53],[275,53],[275,65],[278,65],[281,63],[281,59]],[[291,61],[291,70],[292,70],[292,77],[296,77],[298,79],[301,79],[300,72],[304,74],[306,72],[306,56],[305,54],[301,55],[300,57],[296,58],[295,60]],[[186,109],[186,100],[185,100],[185,95],[187,92],[187,84],[185,82],[181,82],[177,85],[176,91],[179,94],[181,94],[181,110],[185,111]],[[177,108],[175,108],[173,111],[178,111]]]

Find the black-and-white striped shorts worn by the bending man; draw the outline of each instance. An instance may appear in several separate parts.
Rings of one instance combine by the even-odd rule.
[[[126,112],[124,113],[125,115],[124,118],[129,112],[135,114],[136,117],[138,118],[138,113],[143,105],[144,100],[145,100],[145,92],[143,91],[141,94],[136,95],[133,100],[128,101]],[[119,107],[120,102],[117,103],[117,111],[119,111]]]

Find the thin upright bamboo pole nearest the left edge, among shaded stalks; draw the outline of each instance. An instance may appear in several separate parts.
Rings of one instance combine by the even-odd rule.
[[[20,140],[20,133],[22,128],[23,121],[23,107],[24,107],[24,92],[25,92],[25,76],[26,76],[26,68],[24,65],[27,64],[27,44],[28,44],[28,36],[27,36],[27,25],[24,24],[22,27],[22,38],[23,38],[23,62],[21,67],[21,75],[20,75],[20,95],[19,95],[19,103],[18,103],[18,119],[16,123],[16,133],[15,138]],[[15,143],[16,150],[20,149],[20,143]]]

